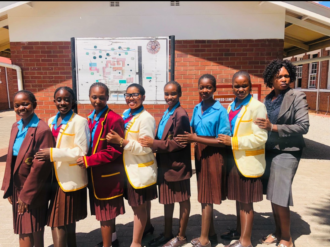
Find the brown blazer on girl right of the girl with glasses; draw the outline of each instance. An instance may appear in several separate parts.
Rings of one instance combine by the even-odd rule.
[[[156,153],[158,176],[164,176],[168,182],[188,179],[192,175],[190,144],[182,145],[174,140],[184,131],[190,133],[190,123],[187,112],[179,105],[168,119],[161,140],[156,134],[153,141],[152,151]]]

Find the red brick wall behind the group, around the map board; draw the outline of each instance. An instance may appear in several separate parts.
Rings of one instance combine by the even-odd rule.
[[[11,42],[13,64],[22,68],[24,89],[32,91],[38,100],[36,113],[48,121],[56,113],[53,94],[59,86],[72,87],[71,48],[69,41],[63,42]],[[211,73],[217,85],[231,84],[238,70],[251,75],[252,84],[262,84],[261,99],[268,93],[263,85],[262,73],[273,59],[283,57],[283,40],[179,40],[175,51],[175,80],[182,85],[182,107],[192,115],[200,102],[197,91],[198,79]],[[16,82],[16,75],[14,76]],[[218,89],[223,94],[232,94],[231,89]],[[110,105],[121,114],[127,105]],[[146,105],[158,124],[167,105]],[[78,113],[86,117],[91,105],[78,105]]]

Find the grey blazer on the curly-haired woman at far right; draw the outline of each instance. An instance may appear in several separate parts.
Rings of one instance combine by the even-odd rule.
[[[279,116],[278,132],[274,132],[275,147],[283,151],[298,151],[306,147],[303,135],[308,132],[309,116],[304,92],[291,88],[285,93]]]

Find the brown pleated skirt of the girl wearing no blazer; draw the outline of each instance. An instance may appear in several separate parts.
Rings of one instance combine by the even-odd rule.
[[[201,136],[215,138],[212,136]],[[198,202],[221,204],[227,197],[227,174],[224,148],[197,143],[195,146],[195,168]]]

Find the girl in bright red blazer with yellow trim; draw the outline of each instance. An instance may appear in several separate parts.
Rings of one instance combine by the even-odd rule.
[[[103,242],[97,246],[112,246],[115,218],[125,213],[123,147],[110,144],[107,133],[115,131],[124,137],[124,120],[107,106],[108,87],[100,82],[90,86],[89,99],[94,107],[88,115],[91,133],[87,156],[77,160],[88,171],[89,203],[92,215],[100,221]]]

